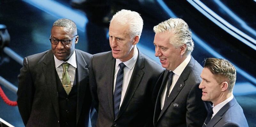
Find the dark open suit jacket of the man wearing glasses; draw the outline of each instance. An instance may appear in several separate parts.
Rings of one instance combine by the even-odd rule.
[[[76,123],[77,126],[87,126],[91,106],[88,64],[92,55],[77,49],[75,51],[78,91]],[[18,76],[17,102],[26,126],[60,126],[56,73],[51,50],[24,58],[23,67]]]

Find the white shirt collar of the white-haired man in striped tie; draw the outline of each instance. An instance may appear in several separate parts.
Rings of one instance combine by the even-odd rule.
[[[136,63],[136,61],[137,61],[137,58],[138,58],[138,54],[139,54],[136,45],[134,46],[134,52],[135,52],[135,54],[134,54],[134,56],[133,56],[130,60],[127,60],[127,61],[123,62],[124,65],[125,65],[126,67],[128,67],[130,70],[132,70],[132,67],[135,65],[135,63]],[[122,61],[119,60],[119,59],[116,59],[116,67],[117,67],[120,63],[122,63]]]

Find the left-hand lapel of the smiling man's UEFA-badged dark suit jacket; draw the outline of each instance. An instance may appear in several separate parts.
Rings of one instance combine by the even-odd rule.
[[[159,89],[159,92],[158,92],[158,95],[157,95],[157,98],[156,98],[156,106],[155,106],[155,115],[154,115],[154,124],[157,122],[158,118],[159,118],[159,114],[161,112],[161,96],[162,96],[162,93],[164,91],[164,87],[166,85],[166,82],[168,80],[168,76],[169,76],[169,70],[165,70],[164,71],[164,78],[162,80],[162,83],[161,83],[161,87]]]

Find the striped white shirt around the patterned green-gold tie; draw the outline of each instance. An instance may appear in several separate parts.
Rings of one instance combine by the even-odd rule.
[[[61,64],[65,63],[65,61],[58,60],[55,55],[53,55],[53,56],[54,56],[55,69],[59,75],[60,81],[62,82],[63,68],[62,68]],[[70,83],[71,83],[71,87],[72,87],[73,83],[74,83],[74,79],[75,79],[75,74],[76,74],[76,53],[75,53],[75,51],[71,55],[71,57],[66,61],[66,63],[69,63],[68,75],[69,75]]]

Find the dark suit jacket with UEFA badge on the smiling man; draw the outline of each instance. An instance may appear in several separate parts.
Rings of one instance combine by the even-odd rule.
[[[202,69],[203,67],[191,56],[191,60],[181,73],[161,110],[160,99],[168,80],[169,71],[165,70],[157,81],[157,86],[160,87],[160,90],[156,99],[154,126],[202,126],[207,116],[207,110],[204,102],[201,100],[202,90],[198,88],[199,84],[196,84],[201,81],[200,74]]]

